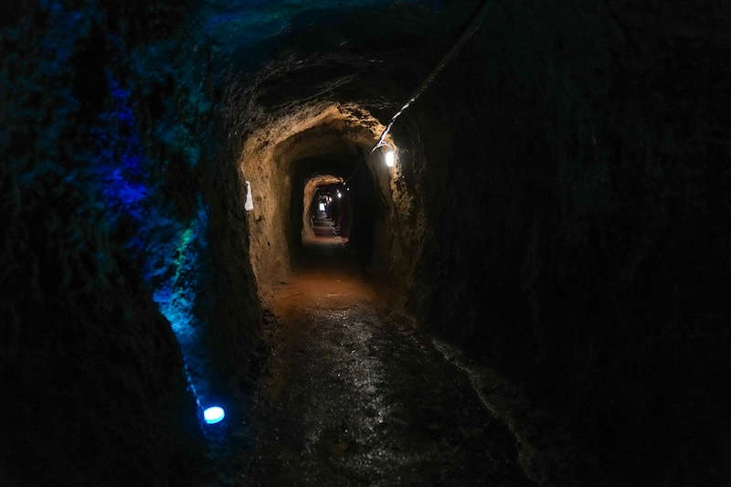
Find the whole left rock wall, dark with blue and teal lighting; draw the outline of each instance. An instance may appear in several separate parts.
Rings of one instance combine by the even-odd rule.
[[[210,105],[186,16],[39,2],[0,31],[4,485],[206,475],[184,355]]]

